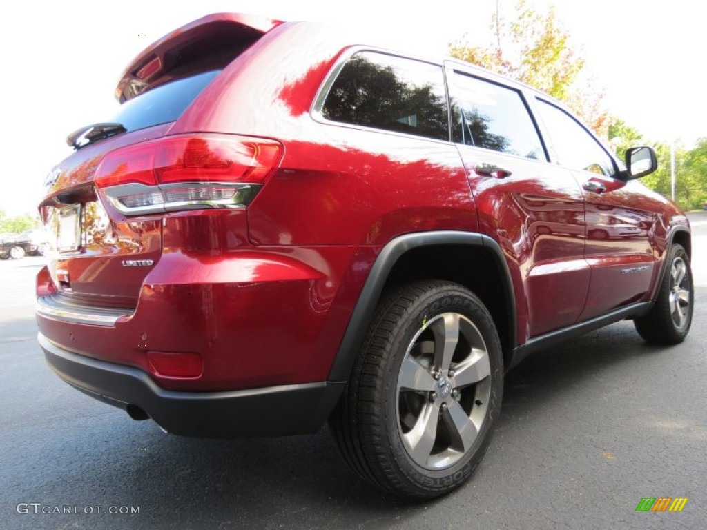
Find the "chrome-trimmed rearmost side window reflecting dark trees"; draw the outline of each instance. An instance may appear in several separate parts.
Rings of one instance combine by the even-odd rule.
[[[334,122],[448,140],[441,66],[376,52],[354,54],[322,108]]]

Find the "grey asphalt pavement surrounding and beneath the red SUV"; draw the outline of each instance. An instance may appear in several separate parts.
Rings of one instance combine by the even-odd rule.
[[[532,355],[472,480],[421,505],[359,481],[326,428],[176,437],[71,389],[35,338],[42,258],[0,261],[0,529],[703,529],[707,213],[690,217],[687,340],[648,346],[619,322]],[[643,497],[688,501],[636,512]]]

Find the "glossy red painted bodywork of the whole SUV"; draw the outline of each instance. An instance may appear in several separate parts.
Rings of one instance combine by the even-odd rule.
[[[552,159],[327,122],[315,98],[351,45],[328,28],[206,17],[141,53],[117,95],[126,98],[140,73],[146,78],[138,81],[158,79],[149,66],[156,57],[164,66],[187,41],[236,27],[258,38],[175,122],[99,141],[62,162],[42,208],[51,218],[62,205],[82,204],[84,239],[77,252],[42,269],[37,296],[58,293],[132,314],[114,326],[40,314],[49,341],[138,367],[164,389],[322,382],[381,249],[397,236],[434,230],[484,234],[501,247],[516,301],[509,349],[653,298],[670,231],[686,223],[674,205],[637,182],[608,177],[607,192],[589,196],[581,184],[590,175]],[[284,146],[247,208],[126,217],[96,192],[96,168],[120,149],[140,151],[199,131]],[[129,169],[124,162],[113,160],[111,183]],[[177,167],[180,157],[172,162]],[[484,164],[505,171],[475,170]],[[150,178],[135,180],[156,184]],[[131,260],[149,265],[126,266]],[[650,269],[621,274],[644,265]],[[148,352],[184,354],[189,369],[160,370]],[[189,365],[195,356],[198,374]]]

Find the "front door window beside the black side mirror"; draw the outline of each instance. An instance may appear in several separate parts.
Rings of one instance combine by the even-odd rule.
[[[577,120],[547,101],[537,102],[561,165],[607,177],[616,173],[612,158]]]

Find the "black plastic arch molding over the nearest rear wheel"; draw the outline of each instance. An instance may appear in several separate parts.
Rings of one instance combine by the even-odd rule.
[[[508,321],[506,343],[511,348],[516,344],[516,312],[513,281],[508,269],[506,257],[501,245],[488,235],[478,232],[463,232],[457,230],[435,230],[430,232],[413,232],[395,237],[381,249],[368,273],[366,283],[363,284],[361,295],[358,297],[354,312],[346,326],[344,338],[339,344],[337,355],[329,371],[329,381],[346,381],[349,379],[351,367],[358,355],[358,347],[366,334],[370,319],[375,312],[375,307],[390,277],[390,273],[399,259],[404,254],[423,247],[436,246],[469,246],[484,249],[488,252],[498,267],[502,285],[500,285],[506,307]],[[505,356],[505,355],[504,355]]]

